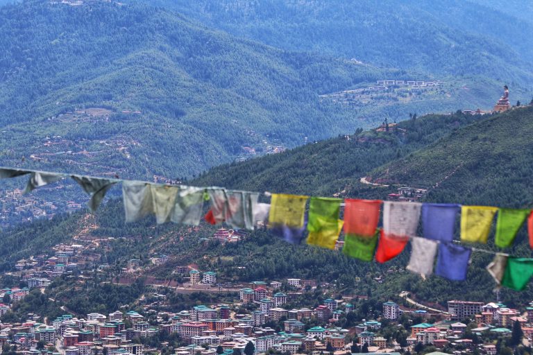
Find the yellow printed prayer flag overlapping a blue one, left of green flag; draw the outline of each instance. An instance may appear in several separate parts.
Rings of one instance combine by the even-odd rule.
[[[273,193],[270,202],[269,224],[303,227],[305,202],[307,202],[307,196]]]

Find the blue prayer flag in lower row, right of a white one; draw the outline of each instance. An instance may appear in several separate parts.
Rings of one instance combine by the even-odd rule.
[[[454,243],[440,243],[435,275],[452,281],[464,281],[471,254],[471,248]]]

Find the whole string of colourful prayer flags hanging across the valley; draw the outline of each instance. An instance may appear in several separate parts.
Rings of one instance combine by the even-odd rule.
[[[379,263],[387,262],[403,252],[410,242],[412,252],[406,268],[423,277],[434,273],[453,281],[464,281],[472,252],[495,254],[487,271],[498,286],[521,291],[533,276],[533,258],[512,257],[470,245],[487,243],[497,216],[495,244],[498,248],[513,245],[516,234],[527,224],[533,249],[531,209],[264,193],[264,196],[271,197],[268,204],[258,202],[260,193],[223,187],[154,184],[0,167],[0,179],[22,175],[29,175],[24,193],[62,178],[73,179],[90,196],[87,207],[91,212],[98,209],[105,193],[120,182],[126,223],[155,216],[158,224],[198,225],[204,202],[209,201],[210,209],[204,217],[209,223],[226,223],[230,227],[247,230],[267,225],[273,234],[289,243],[301,243],[307,232],[307,244],[334,249],[344,230],[342,252],[362,261],[375,259]],[[344,207],[344,220],[339,217],[341,207]],[[466,245],[454,240],[457,218],[460,220],[460,241],[466,242]],[[419,229],[421,236],[417,235]]]

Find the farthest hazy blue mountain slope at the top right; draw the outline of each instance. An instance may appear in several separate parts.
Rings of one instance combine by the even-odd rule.
[[[533,77],[533,24],[524,19],[533,10],[523,1],[151,1],[284,49],[522,85]]]

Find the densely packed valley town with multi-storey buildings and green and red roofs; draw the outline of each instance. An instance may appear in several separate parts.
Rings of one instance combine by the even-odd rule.
[[[246,234],[223,228],[212,236],[219,243],[237,243]],[[17,354],[125,355],[125,354],[453,354],[494,355],[497,348],[532,340],[533,302],[509,309],[500,302],[449,300],[448,309],[420,304],[404,292],[377,305],[374,319],[361,318],[366,297],[342,296],[332,284],[288,278],[225,283],[226,300],[196,305],[179,312],[165,311],[169,293],[220,290],[216,270],[178,266],[180,282],[154,284],[131,304],[109,314],[76,314],[62,306],[64,314],[47,318],[28,313],[24,322],[6,319],[10,310],[28,295],[46,295],[55,280],[74,277],[76,284],[90,275],[87,269],[103,270],[95,263],[96,246],[105,240],[76,239],[56,245],[54,253],[17,261],[6,275],[20,286],[0,291],[0,341],[3,352]],[[342,242],[337,243],[341,249]],[[93,257],[91,257],[93,256]],[[169,262],[171,256],[151,257],[151,266]],[[140,259],[128,259],[122,275],[139,276],[146,268]],[[389,270],[398,272],[398,270]],[[222,280],[223,281],[223,280]],[[382,282],[376,277],[375,282]],[[180,286],[180,287],[178,287]],[[240,286],[240,287],[239,287]],[[76,286],[78,287],[78,286]],[[183,290],[180,290],[183,288]],[[167,291],[164,291],[167,289]],[[164,291],[164,292],[163,292]],[[292,307],[304,292],[307,306]],[[306,293],[307,295],[308,293]],[[48,297],[48,296],[47,296]],[[148,300],[158,300],[148,302]],[[363,303],[361,303],[361,301]],[[300,303],[301,304],[301,303]],[[7,318],[6,318],[7,317]],[[172,344],[172,345],[171,345]]]

